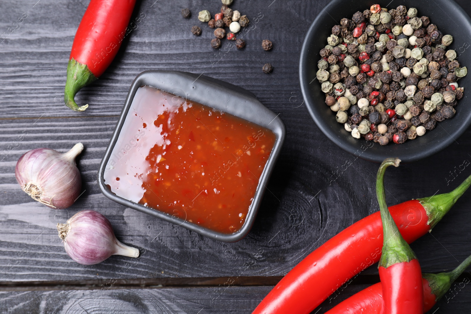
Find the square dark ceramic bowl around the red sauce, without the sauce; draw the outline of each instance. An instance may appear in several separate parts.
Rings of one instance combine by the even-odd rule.
[[[190,223],[184,219],[180,219],[179,217],[174,217],[162,211],[124,199],[120,196],[117,196],[111,192],[108,187],[106,187],[104,179],[106,166],[113,152],[114,145],[118,140],[124,121],[128,115],[132,100],[136,94],[136,91],[142,85],[152,86],[188,100],[207,105],[226,113],[230,113],[265,127],[276,135],[275,145],[259,179],[259,184],[253,197],[252,205],[247,214],[247,218],[239,231],[231,234],[218,233],[202,226]],[[122,108],[120,119],[116,125],[116,129],[114,130],[110,143],[106,148],[105,156],[101,161],[100,169],[98,171],[98,185],[101,192],[105,194],[106,197],[124,206],[136,209],[154,217],[159,217],[172,224],[181,225],[182,227],[193,230],[215,240],[236,242],[242,239],[250,231],[250,228],[253,225],[255,216],[260,207],[263,193],[265,192],[265,186],[268,184],[268,178],[273,171],[276,159],[280,153],[281,146],[283,145],[285,133],[286,130],[283,121],[281,121],[281,119],[275,113],[262,105],[251,92],[245,89],[204,75],[188,72],[142,72],[131,84],[126,102]]]

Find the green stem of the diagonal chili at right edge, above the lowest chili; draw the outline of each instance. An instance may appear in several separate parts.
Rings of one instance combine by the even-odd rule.
[[[471,176],[467,177],[455,190],[419,199],[429,217],[430,231],[447,214],[450,208],[471,185]]]

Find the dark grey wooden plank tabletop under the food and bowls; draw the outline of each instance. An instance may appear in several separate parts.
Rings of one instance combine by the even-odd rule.
[[[88,103],[89,109],[75,113],[63,105],[65,71],[88,2],[0,2],[1,313],[251,313],[309,252],[378,209],[378,165],[331,143],[309,117],[300,93],[303,37],[317,14],[327,14],[323,7],[328,1],[235,0],[233,8],[259,20],[246,34],[244,50],[219,55],[209,46],[211,29],[196,19],[204,8],[216,12],[219,0],[143,0],[134,16],[145,17],[105,74],[78,94],[77,103]],[[399,2],[393,0],[390,7]],[[189,20],[180,16],[186,7],[193,13]],[[24,21],[14,26],[24,13]],[[200,37],[191,34],[193,25],[202,26]],[[261,49],[263,39],[274,42],[272,51]],[[267,62],[275,68],[272,75],[261,71],[260,64]],[[286,124],[286,141],[268,185],[271,193],[265,194],[252,231],[240,242],[203,238],[99,192],[98,164],[130,83],[150,69],[204,73],[239,85],[280,113]],[[457,186],[471,169],[455,179],[450,171],[471,160],[470,136],[468,130],[443,152],[388,171],[388,203]],[[39,147],[65,152],[77,142],[85,145],[78,158],[83,194],[72,207],[47,209],[21,191],[14,169],[23,153]],[[347,161],[351,166],[339,170]],[[412,245],[424,272],[451,270],[471,254],[470,208],[468,192],[433,233]],[[142,256],[114,256],[91,266],[73,262],[56,224],[83,209],[106,215],[119,240],[138,247]],[[313,313],[324,313],[377,281],[377,268],[370,267]],[[469,313],[471,288],[456,291],[430,313]]]

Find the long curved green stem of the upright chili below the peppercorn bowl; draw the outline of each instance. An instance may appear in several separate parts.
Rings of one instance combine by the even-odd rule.
[[[376,197],[380,205],[381,220],[383,224],[383,248],[379,266],[388,268],[391,265],[410,262],[416,259],[414,251],[399,233],[398,226],[386,205],[386,194],[384,193],[384,172],[389,166],[399,167],[399,158],[385,159],[376,176]]]

